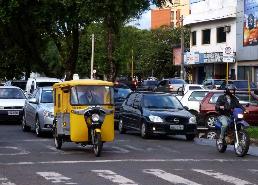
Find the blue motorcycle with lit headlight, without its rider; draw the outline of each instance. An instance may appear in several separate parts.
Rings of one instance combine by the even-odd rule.
[[[249,107],[249,103],[246,105],[246,107]],[[231,115],[228,119],[228,130],[225,133],[223,144],[219,143],[222,123],[220,123],[219,121],[215,121],[215,128],[218,129],[216,147],[219,152],[223,153],[224,151],[226,151],[228,145],[234,145],[235,154],[238,157],[244,157],[247,154],[250,145],[249,135],[247,131],[243,129],[244,126],[250,127],[247,122],[243,121],[244,114],[246,114],[247,112],[239,108],[230,110]],[[219,118],[220,117],[217,117],[217,120],[219,120]]]

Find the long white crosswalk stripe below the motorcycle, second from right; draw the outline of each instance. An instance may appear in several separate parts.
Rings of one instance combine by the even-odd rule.
[[[195,172],[200,172],[202,174],[206,174],[206,175],[214,177],[216,179],[224,180],[226,182],[229,182],[229,183],[232,183],[232,184],[235,184],[235,185],[248,185],[248,184],[255,185],[251,182],[247,182],[247,181],[241,180],[239,178],[235,178],[235,177],[232,177],[232,176],[229,176],[229,175],[225,175],[225,174],[222,174],[222,173],[219,173],[219,172],[215,172],[213,170],[198,170],[198,169],[192,169],[192,170],[195,171]]]

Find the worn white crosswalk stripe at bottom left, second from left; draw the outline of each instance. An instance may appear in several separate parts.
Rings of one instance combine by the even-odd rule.
[[[56,172],[37,172],[40,176],[44,177],[46,180],[53,180],[51,181],[52,183],[64,183],[64,184],[77,184],[73,183],[71,181],[67,180],[72,180],[71,178],[65,177],[62,174],[58,174]]]

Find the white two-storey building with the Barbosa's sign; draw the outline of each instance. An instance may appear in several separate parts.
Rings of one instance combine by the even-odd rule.
[[[231,14],[231,15],[230,15]],[[236,0],[206,0],[191,6],[191,15],[184,17],[184,26],[191,28],[191,53],[195,55],[195,83],[205,79],[226,77],[223,49],[232,46],[234,62],[229,75],[236,78]],[[198,55],[198,57],[196,57]]]

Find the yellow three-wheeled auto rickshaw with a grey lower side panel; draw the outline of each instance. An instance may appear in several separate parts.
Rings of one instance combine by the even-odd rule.
[[[114,140],[114,84],[101,80],[71,80],[53,85],[53,137],[93,145],[100,156],[103,143]]]

